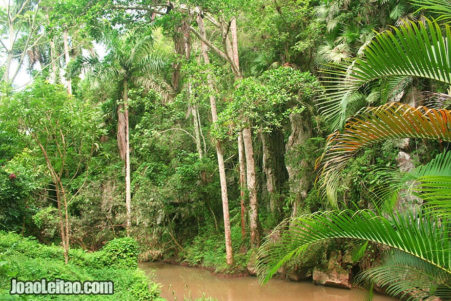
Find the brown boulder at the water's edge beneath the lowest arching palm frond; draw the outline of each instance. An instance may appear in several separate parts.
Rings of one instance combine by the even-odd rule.
[[[327,269],[313,270],[313,281],[316,285],[333,286],[351,289],[350,274],[341,267],[341,254],[331,254]]]

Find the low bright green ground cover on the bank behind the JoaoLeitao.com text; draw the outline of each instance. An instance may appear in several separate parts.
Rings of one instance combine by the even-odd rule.
[[[109,247],[109,255],[117,255],[121,249],[130,250],[135,247],[132,239],[116,240],[112,243],[117,248]],[[121,253],[124,254],[124,253]],[[135,253],[134,253],[135,254]],[[66,280],[112,280],[114,295],[55,295],[55,300],[160,300],[159,285],[150,282],[148,276],[136,269],[136,255],[131,260],[116,256],[108,260],[111,265],[105,267],[99,259],[105,254],[88,253],[82,250],[71,250],[73,260],[64,264],[63,250],[60,247],[40,245],[33,238],[26,238],[13,233],[0,232],[0,295],[8,297],[11,277],[20,280],[36,280],[41,278]],[[47,300],[48,296],[34,295],[33,300]],[[161,299],[162,300],[162,299]]]

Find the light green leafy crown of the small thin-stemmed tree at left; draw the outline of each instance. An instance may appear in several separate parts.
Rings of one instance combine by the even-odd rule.
[[[3,98],[0,109],[1,126],[30,144],[35,163],[51,166],[43,173],[52,181],[55,172],[74,175],[85,167],[99,134],[97,113],[92,104],[43,79]]]

